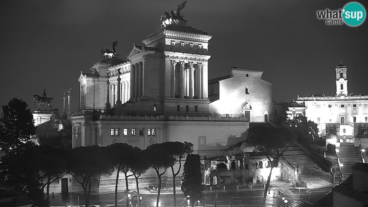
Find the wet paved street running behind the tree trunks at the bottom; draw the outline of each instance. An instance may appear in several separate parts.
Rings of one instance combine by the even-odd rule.
[[[294,204],[295,207],[300,206],[308,206],[308,205],[302,205],[300,201],[297,202],[297,200],[300,200],[301,198],[304,199],[304,201],[309,201],[311,203],[314,203],[315,201],[321,199],[323,196],[325,196],[326,193],[330,191],[330,189],[321,189],[321,190],[300,190],[300,196],[299,190],[293,190],[291,189],[293,193],[295,193],[295,196],[292,196],[290,194],[283,195],[283,194],[275,194],[275,198],[273,197],[273,192],[271,191],[270,194],[267,194],[266,197],[266,206],[272,206],[272,204],[275,202],[275,206],[280,205],[282,203],[282,197],[285,197],[286,199],[289,199],[290,203],[296,203]],[[118,193],[118,200],[121,200],[124,196],[124,193]],[[240,207],[240,206],[260,206],[262,203],[262,197],[263,197],[263,190],[254,190],[254,191],[248,191],[248,192],[217,192],[217,195],[215,197],[215,193],[205,193],[206,198],[206,206],[215,206],[215,201],[217,203],[216,206],[218,207]],[[148,207],[153,207],[156,205],[156,194],[146,194],[142,195],[142,201],[141,205],[144,206],[147,204]],[[177,194],[176,195],[176,202],[177,206],[183,205],[184,207],[187,206],[187,200],[184,198],[183,194]],[[69,196],[55,196],[50,197],[50,204],[51,206],[64,206],[67,202],[69,202],[71,199]],[[90,203],[94,205],[99,205],[95,207],[107,207],[107,206],[114,206],[112,205],[114,203],[115,195],[114,194],[104,194],[99,196],[91,196],[90,197]],[[75,206],[78,206],[78,196],[72,195],[72,203]],[[202,201],[200,201],[200,204]],[[84,204],[84,196],[79,195],[79,204]],[[118,204],[120,206],[125,207],[125,200],[121,200]],[[134,203],[133,203],[134,204]],[[171,207],[173,204],[173,195],[172,194],[162,194],[160,195],[160,206],[162,207]],[[135,204],[134,204],[135,206]],[[310,206],[310,205],[309,205]]]

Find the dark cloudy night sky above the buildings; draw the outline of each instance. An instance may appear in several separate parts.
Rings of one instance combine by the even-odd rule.
[[[160,29],[160,15],[182,0],[1,1],[1,99],[17,97],[34,110],[32,95],[54,98],[63,109],[63,90],[78,108],[78,77],[100,60],[100,49],[125,59],[133,42]],[[336,93],[335,66],[347,65],[348,92],[368,94],[368,23],[329,26],[316,10],[343,8],[349,1],[188,0],[187,25],[208,32],[208,77],[230,67],[264,70],[274,100]],[[367,11],[368,3],[362,3]],[[367,17],[366,17],[367,19]]]

